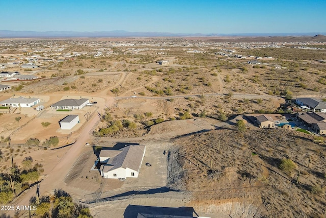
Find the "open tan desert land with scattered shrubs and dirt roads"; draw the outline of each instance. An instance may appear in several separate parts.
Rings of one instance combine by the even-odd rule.
[[[0,108],[1,204],[29,205],[36,191],[51,196],[63,189],[94,217],[137,217],[159,207],[189,207],[207,217],[324,217],[324,136],[260,129],[243,115],[275,113],[296,122],[286,104],[324,101],[325,41],[1,39],[0,63],[10,62],[3,71],[37,78],[1,78],[11,89],[0,92],[0,101],[40,99],[30,108]],[[82,98],[96,103],[50,107]],[[45,108],[35,110],[39,105]],[[59,120],[72,114],[80,122],[61,130]],[[146,146],[138,178],[102,178],[94,166],[100,150],[127,144]],[[293,165],[282,167],[284,160]],[[28,173],[34,176],[26,179]]]

